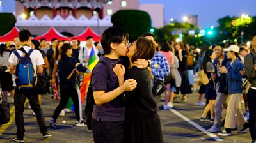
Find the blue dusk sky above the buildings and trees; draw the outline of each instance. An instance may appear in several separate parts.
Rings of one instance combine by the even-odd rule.
[[[14,0],[2,0],[3,11],[15,10]],[[159,3],[164,5],[164,21],[170,18],[182,21],[186,15],[198,15],[203,28],[217,26],[216,21],[227,15],[241,16],[243,13],[256,16],[256,0],[140,0],[140,4]]]

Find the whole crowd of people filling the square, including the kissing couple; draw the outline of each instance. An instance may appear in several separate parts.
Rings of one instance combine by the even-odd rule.
[[[95,142],[163,142],[159,109],[172,109],[175,99],[186,102],[189,100],[187,95],[195,93],[198,85],[195,104],[205,106],[198,118],[213,123],[209,132],[228,136],[232,135],[234,128],[241,127],[239,133],[250,128],[252,142],[256,142],[253,104],[256,92],[255,35],[252,36],[251,47],[231,42],[211,45],[204,41],[201,47],[196,48],[182,41],[157,42],[152,33],[145,33],[130,43],[127,31],[109,27],[100,42],[94,42],[92,36],[85,40],[84,47],[77,39],[59,41],[52,38],[49,44],[44,38],[32,40],[31,33],[22,30],[13,42],[0,45],[0,65],[8,67],[0,75],[1,90],[4,96],[10,92],[15,105],[15,142],[24,142],[25,98],[29,100],[43,137],[52,137],[40,107],[41,96],[33,89],[21,90],[17,83],[13,84],[15,66],[19,63],[16,51],[20,56],[29,53],[34,74],[47,75],[60,89],[60,103],[49,121],[52,128],[58,128],[56,121],[64,112],[69,98],[74,102],[76,126],[86,126],[77,90],[83,72],[92,73],[95,105],[91,124]],[[99,63],[91,71],[87,64],[92,50]],[[78,78],[73,78],[74,71],[78,72]],[[207,84],[194,80],[201,71],[207,75]],[[248,93],[244,93],[241,87],[246,79],[251,84]],[[160,89],[159,84],[164,88]],[[51,87],[50,94],[54,98],[54,87]],[[163,106],[159,105],[161,96],[165,97]],[[241,101],[245,105],[245,116]],[[222,117],[223,108],[226,109],[225,117]],[[225,129],[221,131],[223,118]]]

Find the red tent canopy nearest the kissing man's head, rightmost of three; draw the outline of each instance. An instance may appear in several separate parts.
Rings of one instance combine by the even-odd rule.
[[[76,38],[79,41],[86,41],[87,36],[92,36],[94,41],[100,41],[101,36],[95,33],[90,27],[87,27],[83,33],[78,36],[71,37],[70,39]]]

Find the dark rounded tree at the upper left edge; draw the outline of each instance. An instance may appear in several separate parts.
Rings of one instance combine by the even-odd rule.
[[[15,16],[12,13],[0,13],[0,36],[8,33],[15,26]]]

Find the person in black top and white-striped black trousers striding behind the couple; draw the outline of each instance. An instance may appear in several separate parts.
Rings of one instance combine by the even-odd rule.
[[[53,128],[56,128],[56,119],[60,115],[61,110],[67,106],[70,97],[74,102],[77,119],[76,126],[86,126],[81,115],[81,99],[76,89],[76,77],[79,72],[90,73],[90,70],[78,63],[74,57],[71,57],[71,55],[72,47],[68,43],[65,43],[61,47],[61,57],[60,61],[58,61],[61,100],[52,115],[51,121],[49,122]]]

